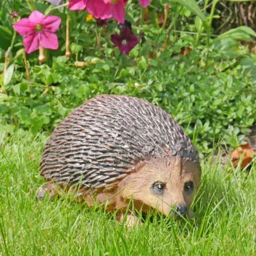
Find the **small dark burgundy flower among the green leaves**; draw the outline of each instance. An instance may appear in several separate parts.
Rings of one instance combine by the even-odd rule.
[[[130,31],[130,28],[127,26],[121,31],[121,34],[112,34],[111,41],[114,46],[117,46],[121,52],[125,54],[129,54],[130,50],[132,50],[138,44],[138,38]]]

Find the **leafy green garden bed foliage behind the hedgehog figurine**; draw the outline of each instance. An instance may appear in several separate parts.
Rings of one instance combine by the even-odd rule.
[[[95,14],[89,7],[73,11],[68,2],[60,6],[49,2],[1,1],[3,122],[36,134],[52,130],[87,98],[126,94],[172,114],[201,151],[223,138],[236,146],[255,123],[256,57],[242,42],[252,42],[256,33],[240,26],[216,35],[212,23],[219,18],[215,15],[219,1],[210,2],[210,8],[208,1],[152,0],[147,7],[149,1],[140,1],[146,8],[137,0],[121,1],[125,21],[115,16],[113,7],[107,19],[100,20],[92,15],[102,18],[102,12]],[[91,1],[77,2],[89,6]],[[44,21],[37,28],[30,24],[37,32],[27,39],[30,45],[23,44],[27,34],[24,28],[20,33],[17,24],[27,26],[35,10],[41,18],[44,14],[55,22],[61,19],[60,27],[51,30],[52,38],[57,35],[57,50],[53,50],[56,44],[47,47],[42,38],[36,39]],[[31,42],[33,50],[28,48]],[[39,55],[40,46],[49,49]]]

